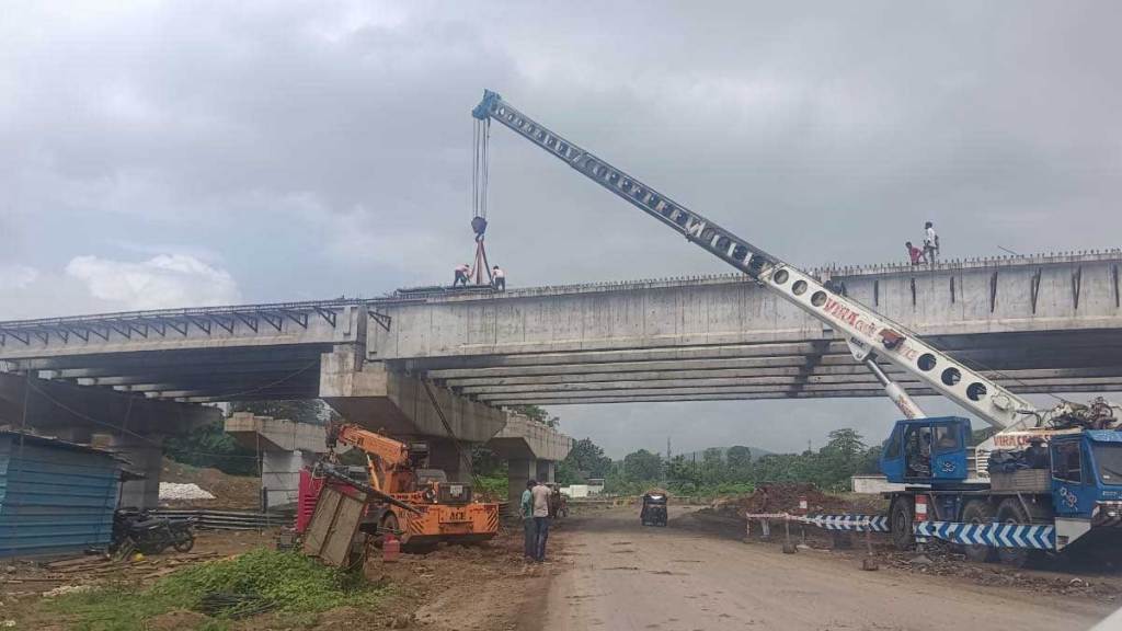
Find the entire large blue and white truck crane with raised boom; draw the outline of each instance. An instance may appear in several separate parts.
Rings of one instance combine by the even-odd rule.
[[[1089,405],[1064,401],[1038,410],[914,332],[563,138],[498,93],[485,90],[471,115],[488,124],[497,120],[845,339],[854,359],[875,375],[905,417],[893,428],[881,458],[889,481],[907,485],[890,494],[888,522],[898,547],[911,547],[917,536],[936,537],[964,546],[973,559],[990,559],[997,552],[1001,560],[1022,565],[1030,552],[1061,550],[1093,529],[1115,537],[1122,532],[1118,528],[1122,522],[1122,431],[1116,430],[1115,406],[1096,399]],[[955,401],[996,428],[997,435],[980,445],[972,458],[969,420],[928,418],[879,359]],[[1046,477],[1037,476],[1032,484],[1004,478],[1006,484],[991,484],[983,470],[990,451],[995,446],[1018,447],[1033,437],[1050,443],[1052,466]],[[920,449],[922,440],[929,440],[930,447]],[[923,458],[926,463],[920,463]],[[973,472],[968,470],[972,459]],[[931,521],[917,520],[917,503],[931,506]]]

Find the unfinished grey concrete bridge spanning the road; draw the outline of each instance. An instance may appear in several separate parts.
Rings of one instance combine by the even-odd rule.
[[[1101,392],[1122,388],[1120,265],[1113,250],[816,274],[1013,391]],[[881,387],[743,276],[0,322],[0,424],[144,438],[202,422],[199,403],[321,397],[426,437],[451,475],[451,438],[490,440],[504,406],[822,396]]]

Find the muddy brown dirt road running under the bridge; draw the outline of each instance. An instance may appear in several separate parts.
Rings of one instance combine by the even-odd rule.
[[[861,571],[826,551],[701,532],[681,509],[669,528],[642,528],[635,510],[576,518],[544,631],[724,629],[1018,631],[1088,629],[1113,607],[1083,598],[982,587],[900,570]]]

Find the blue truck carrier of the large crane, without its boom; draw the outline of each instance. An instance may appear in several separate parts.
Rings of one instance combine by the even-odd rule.
[[[971,421],[960,417],[898,421],[881,452],[881,472],[903,484],[888,493],[892,542],[916,538],[960,545],[976,561],[1023,566],[1033,556],[1122,541],[1122,431],[1026,430],[1040,438],[1045,466],[972,476]],[[981,463],[978,464],[981,468]],[[917,496],[927,521],[916,520]]]

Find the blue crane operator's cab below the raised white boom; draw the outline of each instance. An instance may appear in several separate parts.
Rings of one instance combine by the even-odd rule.
[[[971,421],[962,417],[896,421],[881,450],[881,473],[896,484],[963,482],[969,436]]]

